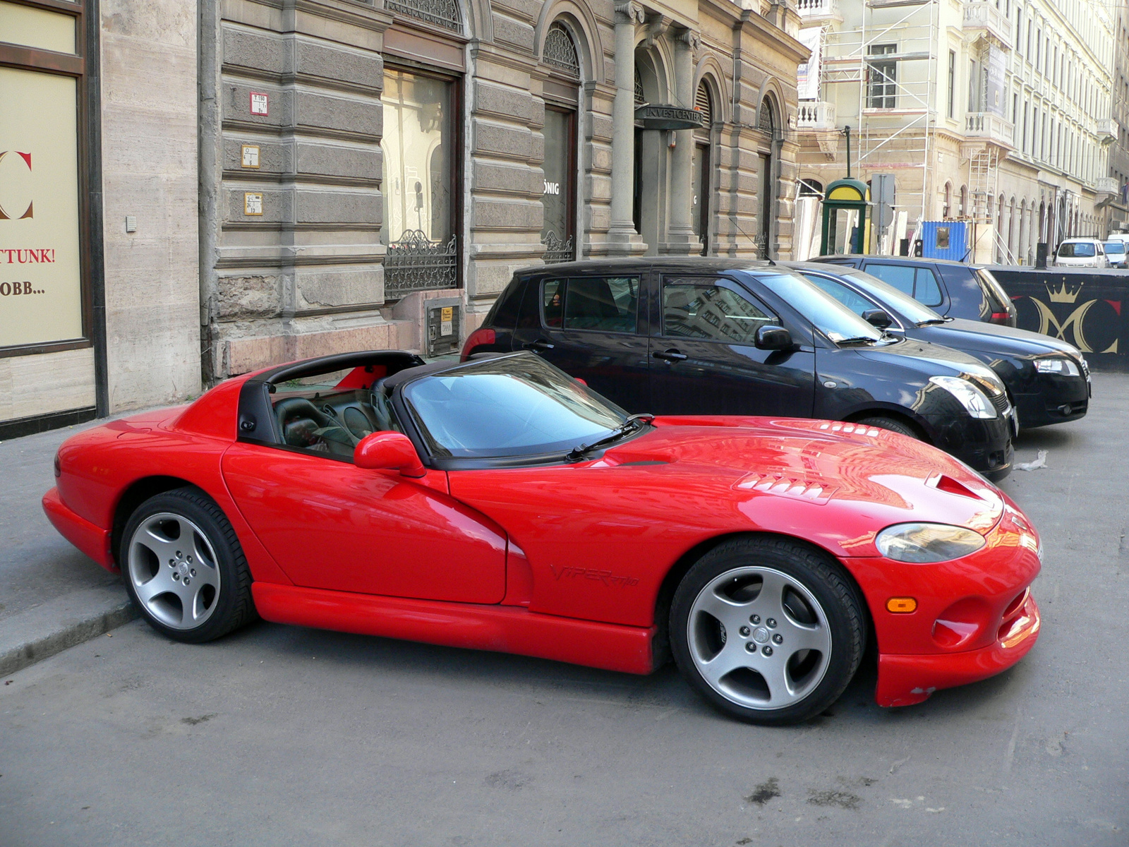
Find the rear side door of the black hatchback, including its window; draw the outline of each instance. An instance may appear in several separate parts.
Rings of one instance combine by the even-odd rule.
[[[514,349],[533,350],[629,412],[650,411],[641,285],[639,273],[531,280]]]

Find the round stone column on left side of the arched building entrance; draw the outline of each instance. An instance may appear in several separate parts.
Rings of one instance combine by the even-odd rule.
[[[634,180],[634,36],[644,21],[636,2],[615,3],[615,103],[612,107],[612,222],[609,252],[632,255],[646,250],[631,219]]]

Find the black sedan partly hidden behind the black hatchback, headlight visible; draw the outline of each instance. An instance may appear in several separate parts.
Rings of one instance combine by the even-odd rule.
[[[1007,386],[1021,426],[1061,424],[1086,413],[1089,368],[1078,349],[1066,341],[1010,326],[942,317],[893,286],[854,268],[786,264],[889,332],[944,344],[988,365]],[[885,317],[875,311],[884,312]]]

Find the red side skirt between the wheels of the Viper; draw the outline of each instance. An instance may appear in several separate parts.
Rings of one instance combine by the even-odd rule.
[[[526,609],[385,597],[277,583],[252,584],[255,608],[275,623],[516,653],[623,673],[654,670],[656,627],[560,618]]]

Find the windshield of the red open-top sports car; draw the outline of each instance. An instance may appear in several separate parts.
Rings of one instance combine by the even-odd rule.
[[[437,456],[567,453],[627,420],[618,405],[533,353],[474,361],[404,386],[403,398]]]

